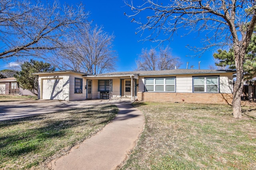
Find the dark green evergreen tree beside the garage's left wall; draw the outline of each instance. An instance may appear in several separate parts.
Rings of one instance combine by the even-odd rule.
[[[33,94],[38,94],[38,75],[32,73],[54,71],[55,67],[42,61],[30,60],[21,65],[21,71],[14,77],[17,79],[20,87],[30,90]]]

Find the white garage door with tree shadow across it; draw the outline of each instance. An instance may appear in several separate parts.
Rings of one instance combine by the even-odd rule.
[[[63,100],[63,79],[44,79],[42,99]]]

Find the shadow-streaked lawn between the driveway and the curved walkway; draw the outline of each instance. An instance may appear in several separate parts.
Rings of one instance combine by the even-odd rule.
[[[99,105],[0,121],[0,169],[47,169],[50,160],[100,131],[117,113],[114,105]]]

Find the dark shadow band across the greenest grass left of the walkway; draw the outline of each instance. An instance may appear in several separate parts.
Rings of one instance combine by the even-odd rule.
[[[0,137],[0,148],[2,148],[0,154],[16,157],[32,152],[37,149],[40,141],[64,137],[68,129],[80,125],[79,121],[76,119],[48,121],[42,127],[12,131],[12,135]],[[88,120],[83,120],[83,123],[86,121]]]

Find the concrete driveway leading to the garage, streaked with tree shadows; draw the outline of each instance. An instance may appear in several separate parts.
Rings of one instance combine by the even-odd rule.
[[[43,113],[52,113],[65,109],[99,104],[131,104],[128,98],[112,98],[111,100],[82,100],[82,101],[58,101],[58,100],[26,100],[15,102],[0,102],[0,121],[17,119]]]

